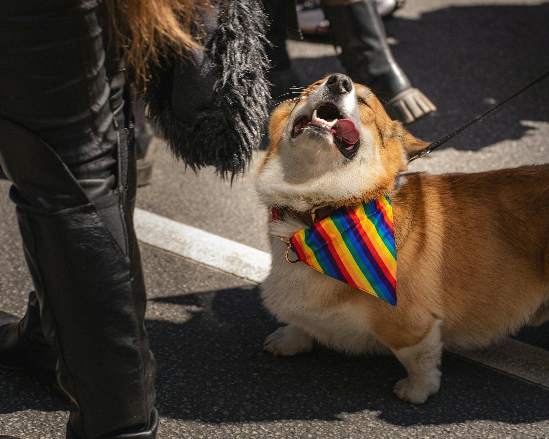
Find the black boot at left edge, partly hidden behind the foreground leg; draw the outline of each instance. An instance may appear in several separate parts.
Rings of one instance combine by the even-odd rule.
[[[44,337],[38,299],[36,292],[31,291],[22,319],[0,312],[0,367],[30,370],[56,382],[55,363],[57,355]]]

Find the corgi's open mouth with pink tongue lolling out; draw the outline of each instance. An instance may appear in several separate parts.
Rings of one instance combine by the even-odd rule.
[[[337,106],[330,102],[318,106],[310,119],[307,116],[299,116],[294,123],[292,137],[299,136],[306,127],[331,133],[340,153],[345,157],[353,155],[358,147],[360,133],[356,130],[355,124],[349,119],[344,119]]]

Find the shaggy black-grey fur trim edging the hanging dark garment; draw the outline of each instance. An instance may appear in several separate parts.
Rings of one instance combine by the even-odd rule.
[[[156,69],[144,100],[173,154],[194,171],[212,165],[232,180],[259,146],[268,117],[267,21],[260,0],[223,1],[219,20],[208,52],[216,79],[212,107],[192,125],[177,119],[170,98],[173,67]]]

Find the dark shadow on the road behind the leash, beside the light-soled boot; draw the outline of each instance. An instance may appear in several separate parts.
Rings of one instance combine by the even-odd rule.
[[[549,3],[452,6],[417,19],[398,15],[385,23],[388,35],[397,41],[391,46],[395,59],[413,86],[438,107],[434,116],[410,126],[421,139],[445,136],[549,70]],[[298,58],[293,63],[301,85],[344,72],[335,57]],[[540,128],[537,121],[549,121],[548,97],[549,79],[442,148],[478,151],[528,136]]]

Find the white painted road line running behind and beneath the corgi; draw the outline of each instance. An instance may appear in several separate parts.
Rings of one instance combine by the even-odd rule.
[[[253,247],[142,209],[136,209],[133,221],[137,238],[153,247],[258,284],[270,270],[271,255]],[[451,352],[549,389],[549,351],[545,349],[505,339],[480,350]]]

